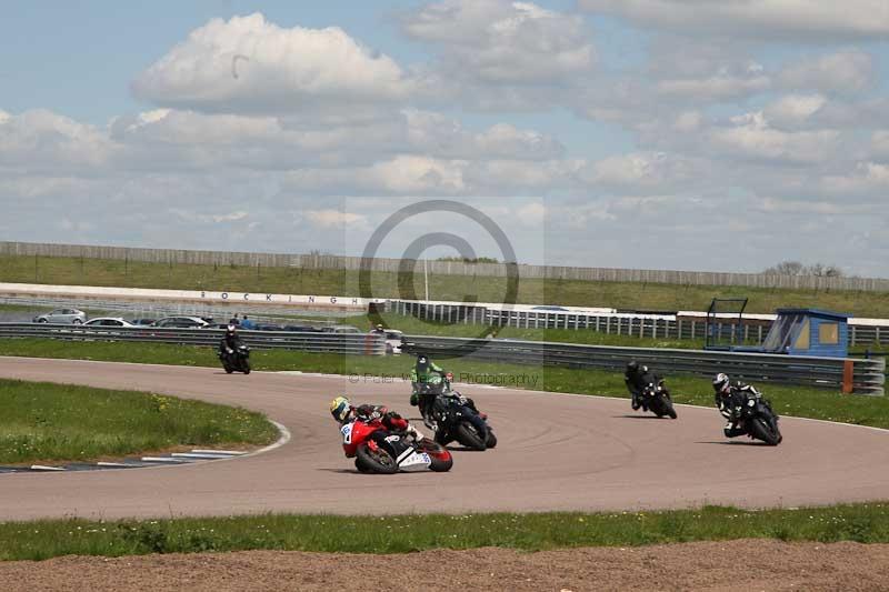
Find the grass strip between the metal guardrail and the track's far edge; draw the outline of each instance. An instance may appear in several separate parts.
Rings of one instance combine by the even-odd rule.
[[[161,363],[217,368],[219,361],[210,348],[156,343],[62,342],[39,339],[0,340],[6,355],[106,360],[113,362]],[[557,367],[518,365],[478,362],[468,359],[436,361],[455,372],[465,383],[499,384],[537,391],[627,397],[620,372],[573,370]],[[254,370],[300,370],[348,374],[359,389],[362,383],[392,383],[393,392],[404,392],[407,405],[410,385],[401,383],[411,369],[411,357],[339,355],[294,351],[253,350]],[[383,377],[383,379],[381,379]],[[677,403],[710,407],[712,388],[708,379],[669,377],[668,384]],[[759,384],[780,414],[841,421],[876,428],[889,428],[888,397],[855,397],[802,387]],[[680,411],[681,413],[681,411]],[[716,413],[716,411],[713,411]]]

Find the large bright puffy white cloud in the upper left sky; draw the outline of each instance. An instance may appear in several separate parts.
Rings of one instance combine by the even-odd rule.
[[[237,78],[232,72],[236,57]],[[293,112],[330,101],[402,100],[414,82],[342,29],[283,29],[262,14],[213,19],[132,84],[137,97],[210,111]]]

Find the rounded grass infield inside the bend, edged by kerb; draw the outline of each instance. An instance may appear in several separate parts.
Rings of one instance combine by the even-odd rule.
[[[0,463],[88,461],[179,446],[267,444],[261,413],[133,391],[0,380]]]

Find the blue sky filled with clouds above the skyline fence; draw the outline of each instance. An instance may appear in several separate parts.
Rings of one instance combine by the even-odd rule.
[[[888,198],[885,0],[0,19],[3,240],[886,278]]]

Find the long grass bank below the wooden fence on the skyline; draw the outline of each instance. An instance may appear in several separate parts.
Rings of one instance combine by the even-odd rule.
[[[481,280],[481,281],[480,281]],[[229,290],[292,294],[359,295],[358,272],[254,268],[233,265],[169,265],[80,258],[0,257],[0,281],[168,288],[178,290]],[[422,275],[373,273],[373,297],[408,298],[421,294]],[[633,310],[707,310],[715,297],[750,299],[748,312],[775,312],[780,307],[817,307],[856,317],[889,317],[889,299],[879,292],[807,291],[745,287],[673,285],[658,283],[532,280],[519,282],[518,301],[532,304],[612,307]],[[429,278],[433,300],[463,300],[473,294],[480,302],[501,302],[506,279],[468,275]]]

